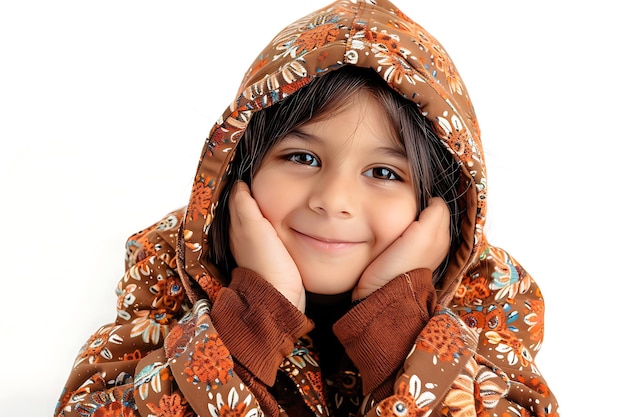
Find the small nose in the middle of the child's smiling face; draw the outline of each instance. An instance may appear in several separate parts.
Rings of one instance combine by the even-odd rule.
[[[357,187],[358,184],[349,175],[320,175],[311,187],[309,207],[316,213],[329,217],[354,217],[358,205]]]

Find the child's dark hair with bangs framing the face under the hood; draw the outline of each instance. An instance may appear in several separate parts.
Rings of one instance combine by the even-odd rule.
[[[395,136],[406,150],[418,199],[418,214],[432,197],[442,197],[448,204],[451,247],[444,262],[434,271],[433,282],[437,283],[443,276],[450,254],[461,240],[464,210],[459,198],[459,165],[435,136],[430,122],[414,102],[392,90],[374,70],[346,66],[313,79],[283,101],[254,113],[250,118],[235,150],[231,173],[225,179],[209,230],[211,249],[208,256],[224,274],[224,279],[230,279],[230,272],[236,265],[228,238],[228,197],[233,184],[243,180],[250,185],[265,155],[283,137],[299,126],[341,108],[354,94],[363,91],[379,100],[395,129]]]

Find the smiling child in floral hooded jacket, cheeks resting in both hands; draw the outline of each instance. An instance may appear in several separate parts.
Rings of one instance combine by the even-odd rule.
[[[377,4],[373,4],[377,3]],[[483,234],[467,90],[385,0],[278,34],[187,207],[135,234],[61,416],[558,415],[543,300]]]

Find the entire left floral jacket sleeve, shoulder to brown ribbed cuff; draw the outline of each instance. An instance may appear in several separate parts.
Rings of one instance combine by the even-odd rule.
[[[182,214],[128,240],[117,318],[80,349],[56,416],[279,413],[267,386],[312,323],[241,268],[213,306],[192,308],[175,269]]]

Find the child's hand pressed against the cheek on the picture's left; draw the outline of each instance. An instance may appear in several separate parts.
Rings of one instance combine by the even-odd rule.
[[[304,312],[305,292],[300,272],[243,181],[233,186],[228,209],[230,250],[237,265],[259,274]]]

